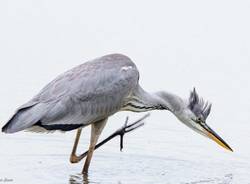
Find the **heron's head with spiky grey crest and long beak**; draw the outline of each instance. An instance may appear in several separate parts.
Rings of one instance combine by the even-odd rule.
[[[212,139],[223,148],[233,151],[230,146],[206,124],[211,106],[210,103],[205,102],[198,96],[194,88],[190,94],[187,106],[177,114],[177,117],[197,133]]]

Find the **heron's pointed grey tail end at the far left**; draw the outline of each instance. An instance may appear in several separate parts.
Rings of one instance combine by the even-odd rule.
[[[12,118],[2,127],[2,132],[15,133],[30,128],[41,118],[41,104],[32,104],[20,108]]]

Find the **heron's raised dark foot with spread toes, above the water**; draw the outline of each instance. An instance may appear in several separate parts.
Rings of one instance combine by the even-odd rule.
[[[128,125],[128,117],[125,121],[125,124],[118,130],[116,130],[115,134],[120,136],[120,151],[123,149],[123,137],[126,133],[131,132],[141,126],[143,126],[145,123],[143,122],[144,119],[146,119],[150,114],[146,114],[141,119],[137,120],[134,123],[131,123]]]

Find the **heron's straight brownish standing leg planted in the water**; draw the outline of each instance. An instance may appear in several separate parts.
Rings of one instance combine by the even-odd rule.
[[[98,141],[99,136],[102,133],[102,130],[104,126],[106,125],[108,119],[104,119],[98,122],[95,122],[91,124],[91,138],[90,138],[90,145],[89,145],[89,150],[87,154],[87,158],[84,163],[84,167],[82,170],[82,173],[87,173],[90,165],[90,161],[92,159],[94,150],[95,150],[95,145]]]

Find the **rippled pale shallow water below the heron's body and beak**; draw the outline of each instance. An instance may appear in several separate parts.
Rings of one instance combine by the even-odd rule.
[[[121,126],[121,119],[124,119],[123,114],[111,118],[101,139]],[[125,135],[123,152],[119,151],[118,138],[99,148],[88,175],[80,174],[83,162],[69,163],[75,132],[1,134],[0,178],[11,179],[12,183],[51,184],[250,183],[249,148],[239,149],[249,143],[249,138],[242,141],[243,131],[234,134],[235,145],[231,145],[235,152],[231,153],[181,124],[159,120],[150,117],[140,130]],[[88,137],[89,128],[86,128],[78,152],[87,148]]]

